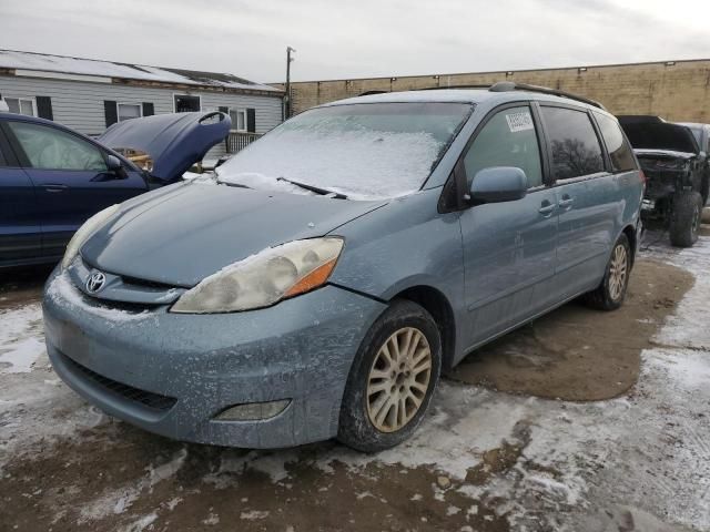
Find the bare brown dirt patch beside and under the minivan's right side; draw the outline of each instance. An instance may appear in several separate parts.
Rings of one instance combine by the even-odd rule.
[[[494,390],[568,401],[626,392],[639,376],[641,351],[692,287],[682,268],[641,259],[627,299],[615,313],[572,301],[470,354],[450,378]]]

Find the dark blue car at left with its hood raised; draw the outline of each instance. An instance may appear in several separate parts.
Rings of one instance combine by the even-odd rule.
[[[222,113],[162,114],[116,123],[93,140],[0,113],[0,268],[60,260],[88,218],[180,180],[229,129]],[[140,151],[141,166],[119,149]]]

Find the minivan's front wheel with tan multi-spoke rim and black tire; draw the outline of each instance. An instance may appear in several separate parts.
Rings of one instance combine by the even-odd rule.
[[[403,442],[422,421],[440,371],[442,339],[436,323],[419,305],[395,300],[369,328],[353,361],[337,439],[363,452]]]

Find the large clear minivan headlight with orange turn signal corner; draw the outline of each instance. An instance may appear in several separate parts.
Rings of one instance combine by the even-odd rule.
[[[173,305],[173,313],[233,313],[267,307],[323,286],[343,249],[337,237],[271,247],[204,278]]]

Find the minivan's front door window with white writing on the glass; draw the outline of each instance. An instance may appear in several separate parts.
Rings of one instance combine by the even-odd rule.
[[[527,105],[500,111],[480,130],[464,157],[468,185],[478,171],[491,166],[517,166],[530,187],[542,184],[540,146]]]

